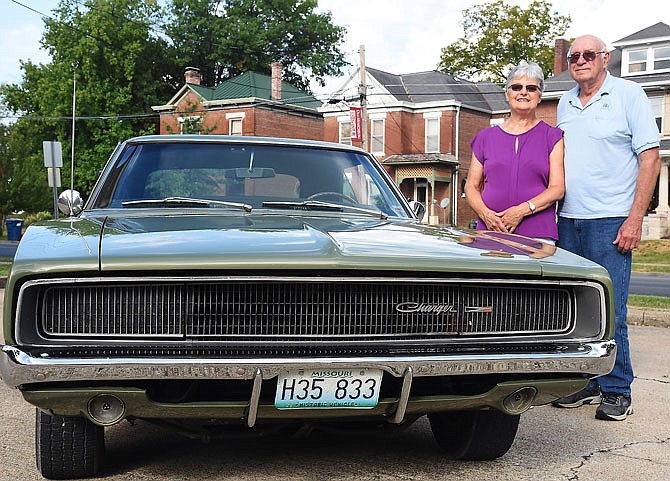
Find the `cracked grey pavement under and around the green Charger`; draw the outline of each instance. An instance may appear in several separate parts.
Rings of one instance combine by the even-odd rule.
[[[314,432],[208,444],[140,421],[106,430],[107,461],[96,479],[667,481],[670,329],[630,326],[630,339],[635,414],[607,422],[594,418],[594,406],[531,409],[512,449],[495,461],[444,459],[425,418],[395,433]],[[0,384],[0,479],[43,479],[35,469],[33,423],[34,408]]]

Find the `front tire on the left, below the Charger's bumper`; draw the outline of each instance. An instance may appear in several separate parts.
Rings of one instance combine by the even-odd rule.
[[[98,473],[105,451],[104,428],[88,419],[50,416],[37,410],[35,460],[48,479],[88,478]]]

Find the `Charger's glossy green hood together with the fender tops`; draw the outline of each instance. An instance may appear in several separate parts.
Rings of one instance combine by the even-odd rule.
[[[15,267],[31,260],[33,273],[365,269],[580,277],[595,266],[513,234],[310,213],[136,214],[43,223],[26,232]]]

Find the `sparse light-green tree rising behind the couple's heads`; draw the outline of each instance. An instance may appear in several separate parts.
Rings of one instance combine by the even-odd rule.
[[[551,2],[534,0],[527,8],[503,0],[463,10],[464,36],[442,49],[438,68],[445,73],[502,84],[521,60],[537,62],[545,76],[554,66],[554,41],[571,18],[551,11]]]

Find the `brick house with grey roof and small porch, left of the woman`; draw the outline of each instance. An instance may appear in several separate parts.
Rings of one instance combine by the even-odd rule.
[[[476,219],[463,194],[470,140],[509,114],[503,90],[438,71],[395,75],[367,68],[365,73],[370,152],[407,198],[426,205],[424,222],[468,225]],[[359,77],[355,71],[334,98],[355,97]],[[360,145],[351,140],[347,102],[319,110],[324,140]]]

